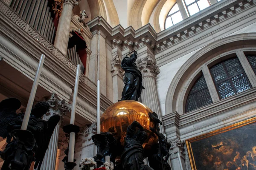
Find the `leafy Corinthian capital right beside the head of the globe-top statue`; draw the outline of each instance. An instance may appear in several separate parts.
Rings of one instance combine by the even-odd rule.
[[[143,77],[156,77],[160,73],[160,69],[156,65],[157,62],[150,55],[148,55],[148,57],[145,57],[145,59],[138,59],[137,64]]]

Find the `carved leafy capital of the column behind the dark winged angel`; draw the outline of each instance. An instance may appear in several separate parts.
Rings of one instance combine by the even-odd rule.
[[[55,93],[52,93],[47,102],[50,105],[50,109],[49,112],[47,112],[47,114],[44,115],[44,120],[48,120],[52,115],[57,114],[61,116],[61,121],[63,121],[66,113],[70,112],[72,108],[72,105],[66,103],[65,99],[59,99]]]

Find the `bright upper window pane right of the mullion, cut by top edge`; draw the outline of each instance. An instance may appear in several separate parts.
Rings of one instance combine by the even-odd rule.
[[[209,0],[185,0],[185,3],[190,16],[211,5]]]

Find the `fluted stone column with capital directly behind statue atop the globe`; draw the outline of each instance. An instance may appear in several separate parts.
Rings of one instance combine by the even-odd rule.
[[[141,71],[142,83],[145,87],[145,90],[141,93],[141,101],[151,108],[152,111],[156,112],[158,118],[163,122],[156,85],[156,76],[160,73],[160,69],[150,54],[144,59],[138,59],[137,66]],[[160,130],[164,134],[163,126],[160,126]]]

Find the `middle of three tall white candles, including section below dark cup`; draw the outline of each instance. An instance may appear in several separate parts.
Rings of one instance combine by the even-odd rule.
[[[80,73],[81,73],[81,65],[77,65],[77,68],[76,68],[76,82],[75,82],[75,87],[74,87],[72,111],[71,111],[71,116],[70,116],[70,124],[72,124],[72,125],[75,124],[76,99],[77,99],[77,93],[78,93]],[[74,161],[75,137],[76,137],[76,133],[71,132],[70,133],[69,150],[68,150],[68,161],[69,162]]]

